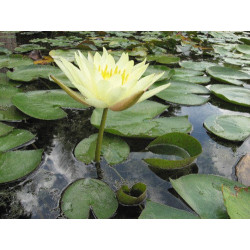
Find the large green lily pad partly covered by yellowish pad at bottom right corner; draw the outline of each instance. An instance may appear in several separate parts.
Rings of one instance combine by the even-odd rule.
[[[177,180],[170,180],[175,191],[203,219],[228,218],[222,197],[222,185],[242,186],[221,176],[190,174]]]

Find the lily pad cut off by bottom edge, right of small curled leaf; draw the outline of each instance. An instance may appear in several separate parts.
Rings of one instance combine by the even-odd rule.
[[[198,219],[187,211],[169,207],[157,202],[147,201],[139,219]]]

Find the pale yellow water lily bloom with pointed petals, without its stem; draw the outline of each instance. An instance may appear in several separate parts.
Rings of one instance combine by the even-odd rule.
[[[165,84],[148,91],[164,72],[141,78],[148,67],[146,60],[134,65],[127,53],[123,53],[115,62],[105,48],[102,56],[96,52],[94,56],[89,53],[88,58],[79,51],[78,54],[75,53],[75,61],[79,68],[63,57],[55,58],[56,64],[81,94],[71,90],[54,76],[51,78],[71,97],[96,108],[121,111],[150,98],[170,85]]]

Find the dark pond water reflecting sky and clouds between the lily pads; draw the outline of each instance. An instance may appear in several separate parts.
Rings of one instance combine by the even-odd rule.
[[[93,33],[94,34],[94,33]],[[110,33],[112,37],[117,38],[119,43],[125,43],[118,40],[118,38],[126,38],[122,33]],[[13,51],[16,47],[22,44],[30,43],[29,41],[37,38],[55,38],[58,36],[75,36],[81,38],[84,45],[85,33],[68,33],[68,32],[17,32],[17,33],[1,33],[0,43],[3,47]],[[104,34],[99,33],[99,36]],[[138,36],[142,35],[140,33]],[[188,37],[188,34],[183,36]],[[204,36],[205,34],[201,34]],[[97,36],[97,35],[96,35]],[[148,39],[153,41],[154,32],[148,36]],[[210,39],[222,39],[214,38]],[[145,38],[146,39],[146,38]],[[160,38],[157,38],[160,39]],[[77,39],[76,39],[77,40]],[[67,42],[67,39],[65,39]],[[170,41],[171,42],[171,41]],[[169,42],[169,43],[170,43]],[[174,42],[174,41],[172,41]],[[223,40],[225,44],[232,44],[234,41]],[[59,43],[59,42],[58,42]],[[116,40],[113,40],[116,44]],[[209,43],[209,41],[207,42]],[[87,44],[87,42],[86,42]],[[177,43],[178,44],[178,43]],[[88,44],[87,44],[88,45]],[[48,55],[51,49],[64,47],[58,44],[45,44],[46,50],[41,50],[43,55]],[[225,46],[225,45],[224,45]],[[67,47],[67,46],[66,46]],[[124,47],[126,47],[124,45]],[[114,50],[117,49],[114,47]],[[160,50],[160,46],[155,46],[155,51]],[[180,47],[182,52],[176,49],[167,50],[173,55],[178,55],[181,60],[206,60],[212,61],[213,57],[204,55],[204,53],[192,52],[185,46]],[[190,48],[189,48],[190,49]],[[170,52],[169,52],[170,51]],[[190,52],[191,51],[191,52]],[[203,52],[201,50],[201,52]],[[217,58],[220,62],[221,58]],[[177,65],[167,65],[170,68],[180,67]],[[232,67],[235,67],[232,65]],[[0,70],[5,73],[6,68]],[[211,80],[207,87],[216,80]],[[245,87],[250,85],[247,83]],[[31,83],[22,84],[21,88],[24,91],[36,89],[52,89],[57,88],[55,84],[49,80],[35,80]],[[163,100],[153,97],[151,100],[166,104]],[[191,135],[195,137],[202,145],[203,152],[197,158],[196,162],[182,171],[172,171],[169,176],[157,175],[150,169],[150,167],[142,160],[147,156],[151,156],[152,152],[145,152],[145,147],[152,140],[150,139],[136,139],[124,138],[130,146],[130,154],[128,159],[120,164],[109,166],[107,162],[102,159],[101,166],[103,169],[103,181],[105,181],[113,190],[123,183],[121,177],[126,180],[128,186],[132,186],[136,182],[143,182],[147,185],[148,198],[162,204],[172,207],[192,211],[181,199],[173,192],[172,186],[169,182],[169,177],[177,178],[179,176],[189,173],[215,174],[224,176],[228,179],[237,180],[235,174],[235,165],[239,159],[250,151],[250,138],[244,142],[229,142],[220,139],[215,135],[209,133],[203,126],[204,120],[214,114],[244,114],[250,116],[248,108],[240,107],[234,104],[229,104],[221,101],[214,95],[210,96],[210,100],[200,106],[185,106],[173,103],[168,103],[170,107],[164,111],[161,117],[170,116],[188,116],[189,122],[193,128]],[[97,133],[97,129],[90,123],[90,116],[93,108],[86,110],[70,110],[66,109],[67,117],[59,120],[39,120],[29,118],[22,122],[6,123],[15,128],[26,129],[36,134],[36,140],[33,144],[25,146],[26,149],[42,148],[44,149],[43,159],[40,166],[27,177],[0,186],[0,218],[63,218],[59,201],[63,190],[73,181],[79,178],[96,178],[96,168],[93,164],[84,164],[75,159],[73,151],[75,146],[84,138],[91,134]],[[164,150],[169,152],[169,148]],[[172,149],[177,150],[178,149]],[[187,152],[181,152],[177,158],[185,158],[188,156]],[[164,157],[173,157],[164,156]],[[168,159],[170,159],[168,158]],[[139,207],[123,207],[119,206],[115,218],[137,218],[141,210]]]

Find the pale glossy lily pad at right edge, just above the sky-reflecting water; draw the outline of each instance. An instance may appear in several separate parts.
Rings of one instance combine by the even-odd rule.
[[[215,84],[211,86],[210,91],[226,102],[250,107],[250,89],[224,84]]]

